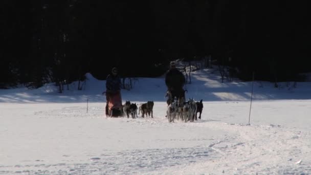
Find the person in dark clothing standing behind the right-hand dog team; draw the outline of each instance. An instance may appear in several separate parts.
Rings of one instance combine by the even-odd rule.
[[[167,90],[171,93],[171,102],[173,99],[179,98],[183,91],[183,86],[186,82],[186,78],[182,72],[176,69],[175,62],[170,63],[170,69],[167,71],[165,76],[165,84],[167,86]]]

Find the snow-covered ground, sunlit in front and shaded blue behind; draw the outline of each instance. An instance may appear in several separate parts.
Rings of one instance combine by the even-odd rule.
[[[154,101],[154,118],[106,118],[105,81],[87,74],[57,93],[0,90],[0,174],[311,174],[311,83],[221,83],[199,70],[187,98],[202,120],[169,123],[162,78],[138,78],[122,100]],[[86,103],[88,100],[88,104]]]

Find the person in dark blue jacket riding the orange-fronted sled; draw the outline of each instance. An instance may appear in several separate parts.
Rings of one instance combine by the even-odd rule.
[[[106,78],[106,115],[108,114],[109,105],[113,105],[114,102],[120,103],[122,105],[121,99],[121,78],[118,75],[118,69],[114,67],[112,73],[109,74]],[[113,97],[119,97],[117,101],[113,102]]]

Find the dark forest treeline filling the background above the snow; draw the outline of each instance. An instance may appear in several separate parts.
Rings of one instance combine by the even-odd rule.
[[[1,1],[0,87],[162,75],[176,58],[211,55],[250,80],[311,70],[307,4],[292,1]],[[231,57],[231,61],[229,61]]]

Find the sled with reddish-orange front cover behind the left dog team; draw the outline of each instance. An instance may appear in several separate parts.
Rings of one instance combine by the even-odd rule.
[[[103,92],[106,95],[106,117],[123,116],[121,93]]]

